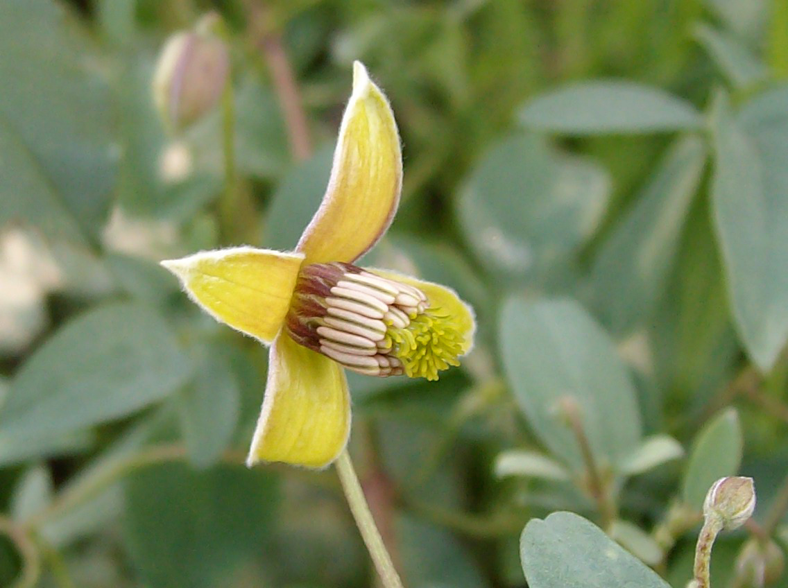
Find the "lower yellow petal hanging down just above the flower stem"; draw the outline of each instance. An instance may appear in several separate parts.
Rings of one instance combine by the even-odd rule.
[[[247,466],[281,461],[325,467],[339,456],[348,434],[350,394],[344,371],[281,333],[271,347],[266,396]]]

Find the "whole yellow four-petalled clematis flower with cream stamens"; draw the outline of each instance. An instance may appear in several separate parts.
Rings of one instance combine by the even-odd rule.
[[[435,380],[473,344],[473,311],[450,288],[353,265],[388,229],[401,185],[394,115],[356,61],[329,185],[295,251],[162,262],[203,310],[271,345],[248,466],[325,467],[340,455],[351,423],[343,368]]]

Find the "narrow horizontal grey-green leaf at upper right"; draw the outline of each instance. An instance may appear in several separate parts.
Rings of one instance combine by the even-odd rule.
[[[656,87],[624,80],[567,84],[520,111],[527,128],[567,135],[641,134],[695,129],[695,107]]]

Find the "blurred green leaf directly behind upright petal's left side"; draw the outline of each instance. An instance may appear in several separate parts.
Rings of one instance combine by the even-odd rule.
[[[262,238],[265,247],[282,251],[296,247],[329,184],[333,153],[333,144],[325,144],[306,162],[284,174],[266,215]]]

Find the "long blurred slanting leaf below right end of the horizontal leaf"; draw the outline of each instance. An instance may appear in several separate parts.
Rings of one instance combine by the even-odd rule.
[[[705,158],[697,136],[674,143],[601,245],[591,270],[592,306],[614,333],[647,320],[663,294]]]

